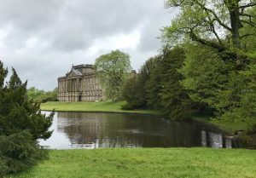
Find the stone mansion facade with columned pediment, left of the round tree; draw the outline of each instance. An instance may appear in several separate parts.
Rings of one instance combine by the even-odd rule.
[[[92,65],[73,66],[65,77],[58,78],[58,100],[96,101],[104,99],[99,78]]]

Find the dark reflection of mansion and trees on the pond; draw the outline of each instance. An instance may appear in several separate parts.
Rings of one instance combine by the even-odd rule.
[[[58,130],[73,144],[96,147],[201,146],[201,127],[152,116],[122,113],[58,112]]]

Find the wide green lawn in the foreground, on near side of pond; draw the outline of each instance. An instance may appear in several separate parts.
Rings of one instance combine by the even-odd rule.
[[[12,178],[253,178],[256,151],[118,148],[49,151],[49,159]]]

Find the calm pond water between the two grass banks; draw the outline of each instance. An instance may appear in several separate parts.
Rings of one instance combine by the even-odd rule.
[[[49,114],[49,112],[45,112]],[[222,133],[193,122],[131,113],[56,112],[51,149],[98,147],[231,147]]]

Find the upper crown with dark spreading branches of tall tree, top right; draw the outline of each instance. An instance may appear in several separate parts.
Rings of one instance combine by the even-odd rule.
[[[168,41],[189,38],[217,49],[224,60],[247,63],[243,42],[255,33],[243,29],[256,27],[255,0],[166,0],[166,6],[180,9],[172,26],[164,29]]]

